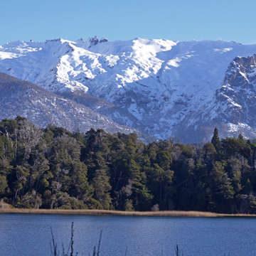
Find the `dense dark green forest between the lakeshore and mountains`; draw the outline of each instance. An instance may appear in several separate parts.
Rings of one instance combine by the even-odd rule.
[[[0,122],[0,198],[16,208],[256,213],[256,143],[238,138],[144,144],[23,117]]]

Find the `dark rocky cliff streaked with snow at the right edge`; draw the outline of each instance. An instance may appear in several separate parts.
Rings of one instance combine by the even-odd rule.
[[[256,55],[230,63],[213,108],[215,119],[228,124],[227,134],[256,137]]]

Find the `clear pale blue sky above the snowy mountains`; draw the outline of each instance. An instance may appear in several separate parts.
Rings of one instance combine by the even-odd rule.
[[[255,0],[0,0],[0,45],[90,36],[256,43]]]

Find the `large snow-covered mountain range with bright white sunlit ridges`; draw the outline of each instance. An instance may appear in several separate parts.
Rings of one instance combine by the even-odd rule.
[[[234,120],[240,101],[224,95],[230,63],[254,53],[256,45],[225,41],[18,41],[0,46],[0,71],[155,137],[199,142],[215,125],[223,135],[253,134],[254,121]]]

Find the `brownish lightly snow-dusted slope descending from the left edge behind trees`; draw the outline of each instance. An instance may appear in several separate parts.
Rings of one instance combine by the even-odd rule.
[[[105,129],[110,133],[137,132],[112,122],[90,108],[48,92],[31,82],[0,73],[0,120],[26,117],[39,127],[54,124],[70,131]]]

